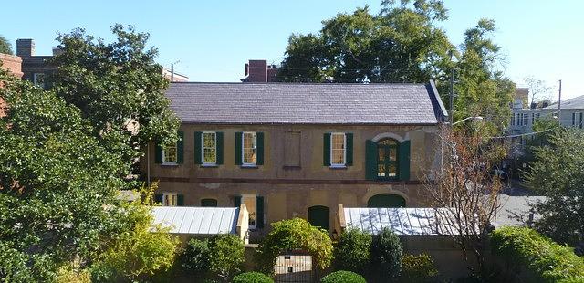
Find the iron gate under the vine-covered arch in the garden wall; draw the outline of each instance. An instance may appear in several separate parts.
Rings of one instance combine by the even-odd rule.
[[[310,283],[316,277],[312,257],[302,250],[287,251],[278,256],[274,274],[277,283]]]

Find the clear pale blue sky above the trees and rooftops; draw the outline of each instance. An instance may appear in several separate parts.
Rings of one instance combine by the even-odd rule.
[[[89,34],[110,39],[113,23],[135,25],[151,34],[160,50],[159,62],[193,81],[238,81],[249,58],[279,63],[292,33],[318,32],[323,19],[381,0],[295,1],[10,1],[3,4],[0,35],[16,46],[16,38],[33,38],[36,54],[50,54],[56,32],[84,27]],[[582,28],[584,1],[446,0],[450,19],[443,24],[455,44],[464,30],[481,17],[493,18],[495,41],[506,56],[506,75],[521,84],[527,76],[544,79],[557,97],[584,95]],[[26,11],[20,13],[18,11]]]

